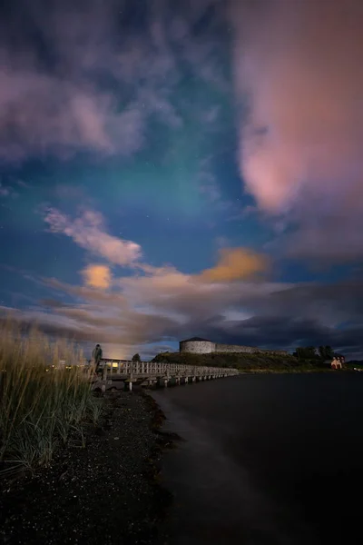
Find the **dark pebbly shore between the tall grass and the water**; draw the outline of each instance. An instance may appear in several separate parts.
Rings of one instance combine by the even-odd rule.
[[[172,498],[159,471],[172,438],[159,431],[163,418],[143,392],[106,394],[100,425],[51,467],[0,479],[0,543],[167,543]]]

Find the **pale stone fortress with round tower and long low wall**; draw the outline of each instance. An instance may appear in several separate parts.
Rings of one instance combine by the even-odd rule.
[[[192,337],[186,341],[179,342],[179,352],[192,354],[211,354],[211,353],[265,353],[287,355],[289,352],[284,350],[264,350],[255,346],[240,346],[239,344],[219,344],[211,342],[201,337]]]

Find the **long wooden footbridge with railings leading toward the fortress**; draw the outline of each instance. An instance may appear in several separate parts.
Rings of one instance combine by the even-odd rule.
[[[130,362],[127,360],[103,359],[102,379],[93,381],[93,389],[120,390],[126,384],[142,386],[163,386],[189,384],[192,382],[221,379],[239,374],[236,369],[222,367],[200,367],[180,363]]]

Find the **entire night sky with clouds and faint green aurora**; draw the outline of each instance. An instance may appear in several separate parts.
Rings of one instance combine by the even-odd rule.
[[[363,357],[360,0],[0,7],[0,316]]]

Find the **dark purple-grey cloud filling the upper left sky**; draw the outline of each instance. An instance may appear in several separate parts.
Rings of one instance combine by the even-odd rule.
[[[214,4],[199,0],[185,10],[158,0],[3,3],[0,157],[130,155],[142,148],[151,115],[181,126],[172,104],[178,62],[211,84],[221,79],[211,23],[202,42],[193,33]]]

